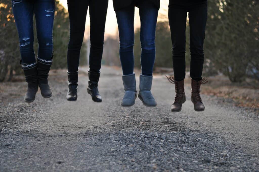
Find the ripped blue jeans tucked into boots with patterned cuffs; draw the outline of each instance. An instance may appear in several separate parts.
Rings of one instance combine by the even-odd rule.
[[[33,15],[37,25],[38,56],[49,60],[53,51],[52,30],[54,23],[54,0],[12,0],[13,15],[18,30],[21,59],[23,63],[35,62],[33,49]]]

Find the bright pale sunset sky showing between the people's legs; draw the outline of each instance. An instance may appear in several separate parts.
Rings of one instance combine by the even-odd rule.
[[[67,0],[60,0],[60,3],[67,9]],[[158,20],[167,20],[168,3],[169,3],[168,0],[161,0],[161,8],[159,10]],[[140,25],[139,11],[138,11],[138,8],[135,8],[134,26],[139,27],[139,25]],[[87,19],[86,19],[86,28],[85,28],[86,37],[88,37],[89,31],[90,31],[90,18],[89,18],[89,10],[88,10]],[[115,11],[113,10],[112,0],[109,0],[106,26],[105,26],[105,35],[115,35],[117,31],[118,31],[118,25],[117,25]]]

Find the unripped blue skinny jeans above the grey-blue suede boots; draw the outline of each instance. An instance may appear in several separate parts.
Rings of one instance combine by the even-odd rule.
[[[140,1],[138,6],[141,24],[141,73],[152,76],[156,54],[155,32],[158,9],[147,0]],[[132,74],[134,69],[134,9],[134,5],[131,5],[116,11],[123,75]]]

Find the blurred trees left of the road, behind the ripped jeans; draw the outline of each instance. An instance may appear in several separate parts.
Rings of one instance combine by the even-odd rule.
[[[53,27],[54,59],[52,69],[67,67],[67,47],[69,41],[69,17],[67,10],[56,0],[55,20]],[[34,50],[38,52],[38,41],[36,35],[36,23],[34,20]],[[2,0],[0,3],[0,82],[12,73],[21,74],[19,61],[20,46],[19,38],[12,12],[10,0]],[[83,42],[81,56],[86,56],[86,42]],[[81,64],[86,63],[86,58],[81,59]]]

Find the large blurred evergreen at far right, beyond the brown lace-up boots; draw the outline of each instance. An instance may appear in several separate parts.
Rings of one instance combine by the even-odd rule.
[[[259,76],[258,1],[209,0],[204,52],[232,82]]]

